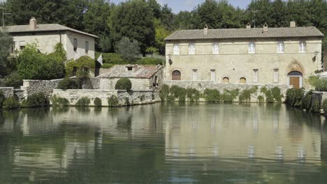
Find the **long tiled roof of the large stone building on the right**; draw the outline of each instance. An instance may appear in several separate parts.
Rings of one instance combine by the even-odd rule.
[[[279,27],[252,29],[209,29],[208,34],[203,29],[175,31],[165,40],[198,40],[198,39],[224,39],[224,38],[290,38],[290,37],[323,37],[324,34],[314,26],[309,27]]]

